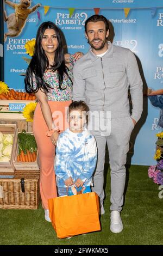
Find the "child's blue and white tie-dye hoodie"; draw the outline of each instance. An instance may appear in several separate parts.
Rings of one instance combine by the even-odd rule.
[[[90,186],[96,161],[95,137],[87,129],[81,133],[65,130],[57,141],[54,162],[57,186],[66,187],[64,181],[70,177],[74,182],[79,178],[84,181],[84,186]]]

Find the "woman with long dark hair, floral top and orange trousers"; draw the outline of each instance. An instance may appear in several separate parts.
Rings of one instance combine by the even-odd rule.
[[[65,64],[61,32],[53,22],[43,22],[36,35],[35,53],[25,78],[26,91],[34,92],[38,104],[34,113],[33,132],[40,157],[40,193],[45,220],[51,221],[48,199],[57,197],[54,156],[59,130],[67,127],[65,111],[72,99],[71,62]],[[59,124],[59,127],[57,125]]]

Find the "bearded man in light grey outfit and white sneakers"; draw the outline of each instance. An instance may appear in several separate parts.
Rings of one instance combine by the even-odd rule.
[[[142,113],[142,80],[134,54],[127,48],[108,42],[109,24],[104,16],[93,15],[86,20],[85,36],[90,50],[74,65],[73,100],[85,101],[91,111],[90,117],[95,119],[95,125],[90,130],[96,138],[98,160],[92,191],[101,200],[101,214],[105,213],[103,172],[105,145],[108,145],[111,168],[110,230],[120,233],[123,229],[120,211],[126,180],[124,165],[131,131]],[[131,116],[129,86],[133,105]]]

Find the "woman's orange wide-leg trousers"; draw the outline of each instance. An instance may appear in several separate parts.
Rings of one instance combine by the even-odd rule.
[[[55,126],[59,126],[61,131],[68,127],[67,107],[70,103],[71,101],[48,101],[54,124]],[[46,136],[46,131],[48,130],[40,104],[37,103],[33,120],[33,133],[40,157],[40,194],[43,209],[48,209],[49,198],[57,197],[54,171],[55,146],[52,144],[51,138]]]

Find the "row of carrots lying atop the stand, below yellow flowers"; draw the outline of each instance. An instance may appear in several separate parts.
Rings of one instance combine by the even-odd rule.
[[[16,92],[10,89],[8,93],[0,94],[0,100],[35,100],[36,96],[33,93]]]

